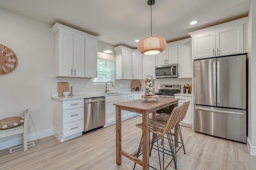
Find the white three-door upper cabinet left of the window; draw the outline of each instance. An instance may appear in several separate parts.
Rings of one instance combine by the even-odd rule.
[[[55,76],[94,78],[98,38],[55,23]]]

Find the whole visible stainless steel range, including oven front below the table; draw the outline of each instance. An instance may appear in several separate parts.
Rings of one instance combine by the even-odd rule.
[[[180,85],[162,85],[158,86],[158,93],[155,93],[161,98],[174,98],[174,94],[180,93]],[[156,111],[156,113],[172,113],[174,106],[168,106]]]

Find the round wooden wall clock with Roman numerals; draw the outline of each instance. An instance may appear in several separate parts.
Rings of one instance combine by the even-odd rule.
[[[0,75],[12,72],[17,65],[16,54],[5,45],[0,44]]]

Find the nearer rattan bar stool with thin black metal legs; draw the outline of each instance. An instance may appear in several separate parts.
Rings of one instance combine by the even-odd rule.
[[[158,147],[157,150],[158,150],[160,170],[162,170],[160,152],[163,152],[163,169],[165,170],[170,165],[172,160],[174,160],[174,165],[175,165],[174,167],[175,167],[175,169],[177,169],[176,157],[175,157],[175,155],[176,155],[176,144],[175,144],[175,147],[174,147],[173,140],[172,140],[172,135],[170,137],[169,132],[177,124],[178,119],[180,117],[181,108],[182,108],[182,106],[174,107],[174,109],[172,110],[172,114],[169,114],[168,120],[166,122],[159,121],[159,120],[156,120],[156,119],[150,119],[149,120],[149,131],[153,133],[153,139],[152,139],[152,144],[151,144],[151,149],[150,150],[152,150],[152,147],[153,147],[152,145],[154,145],[154,143],[157,142],[157,147]],[[139,127],[139,128],[142,129],[142,123],[136,125],[136,127]],[[164,149],[164,143],[162,143],[162,151],[159,150],[159,146],[158,146],[158,138],[159,138],[158,135],[161,136],[162,140],[164,141],[163,136],[165,134],[167,134],[167,137],[168,137],[168,143],[169,143],[170,149],[171,149],[171,151],[170,151],[171,154],[170,155],[172,156],[172,160],[169,162],[169,164],[166,166],[166,168],[164,168],[164,154],[166,153],[165,149]],[[139,145],[139,149],[138,149],[136,158],[138,158],[138,156],[140,156],[141,146],[142,146],[142,140],[140,140],[140,145]],[[175,152],[174,152],[174,149],[175,149]],[[136,166],[136,163],[134,164],[134,168],[135,168],[135,166]],[[152,166],[150,166],[150,167],[152,167]],[[154,168],[154,167],[152,167],[152,168]],[[156,168],[154,168],[154,169],[156,169]]]

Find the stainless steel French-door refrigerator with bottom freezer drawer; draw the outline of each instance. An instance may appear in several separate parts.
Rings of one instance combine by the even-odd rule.
[[[246,55],[194,61],[194,131],[246,143]]]

